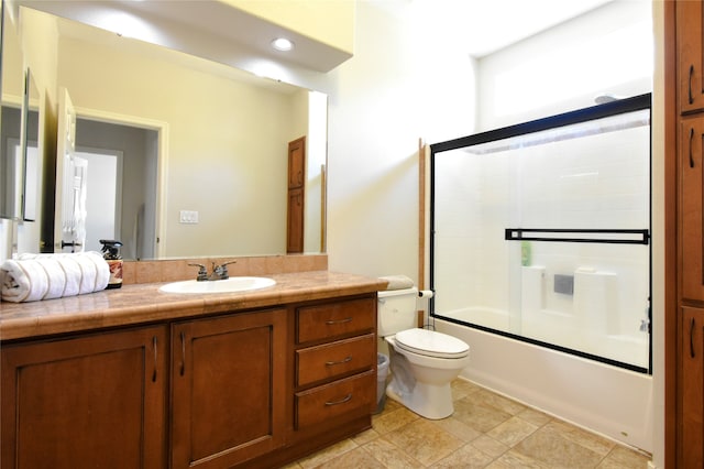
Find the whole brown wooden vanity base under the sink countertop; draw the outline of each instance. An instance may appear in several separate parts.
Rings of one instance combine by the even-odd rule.
[[[280,467],[371,427],[376,293],[0,348],[3,468]]]

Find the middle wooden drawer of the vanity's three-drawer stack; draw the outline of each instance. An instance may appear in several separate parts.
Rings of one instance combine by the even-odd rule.
[[[339,377],[374,367],[376,341],[373,334],[296,351],[296,385]]]

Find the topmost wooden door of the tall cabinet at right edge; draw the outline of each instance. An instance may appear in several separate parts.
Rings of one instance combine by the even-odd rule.
[[[704,109],[704,7],[676,2],[678,87],[680,111]]]

